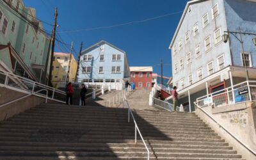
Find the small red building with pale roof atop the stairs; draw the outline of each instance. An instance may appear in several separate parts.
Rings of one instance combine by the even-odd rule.
[[[130,82],[135,83],[135,89],[152,88],[153,67],[130,67]]]

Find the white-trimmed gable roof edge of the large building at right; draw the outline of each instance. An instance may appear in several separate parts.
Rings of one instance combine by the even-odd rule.
[[[177,29],[176,29],[176,31],[175,31],[175,33],[174,33],[174,35],[173,35],[172,42],[171,42],[171,44],[170,44],[170,46],[169,46],[169,49],[172,48],[172,45],[173,45],[173,43],[174,43],[174,40],[175,40],[177,34],[179,33],[180,26],[181,26],[181,24],[182,24],[182,22],[183,22],[183,20],[184,20],[184,17],[185,17],[185,15],[186,15],[186,13],[188,13],[188,8],[189,8],[189,6],[190,6],[191,4],[201,3],[201,2],[204,2],[204,1],[209,1],[209,0],[193,0],[193,1],[188,1],[188,3],[186,4],[185,10],[184,10],[184,12],[182,13],[180,22],[179,22],[179,24],[178,24],[178,26],[177,26]]]

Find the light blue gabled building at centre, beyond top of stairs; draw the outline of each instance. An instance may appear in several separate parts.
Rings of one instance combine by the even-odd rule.
[[[78,81],[120,90],[129,72],[126,52],[102,40],[82,51]]]

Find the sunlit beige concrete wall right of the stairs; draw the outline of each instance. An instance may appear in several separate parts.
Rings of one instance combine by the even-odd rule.
[[[246,146],[256,150],[256,108],[253,102],[223,106],[212,109],[211,106],[203,108],[225,129],[234,134]],[[220,125],[216,124],[209,116],[205,115],[200,109],[196,109],[198,115],[207,125],[224,138],[230,146],[243,156],[244,159],[256,159],[246,148],[228,134]]]

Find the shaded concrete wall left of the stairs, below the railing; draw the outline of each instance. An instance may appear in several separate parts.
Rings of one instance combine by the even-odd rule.
[[[0,104],[10,102],[25,96],[25,93],[15,92],[6,88],[0,88]],[[45,102],[45,99],[36,96],[29,96],[0,108],[0,122],[15,115],[19,115],[30,108],[34,108]]]

